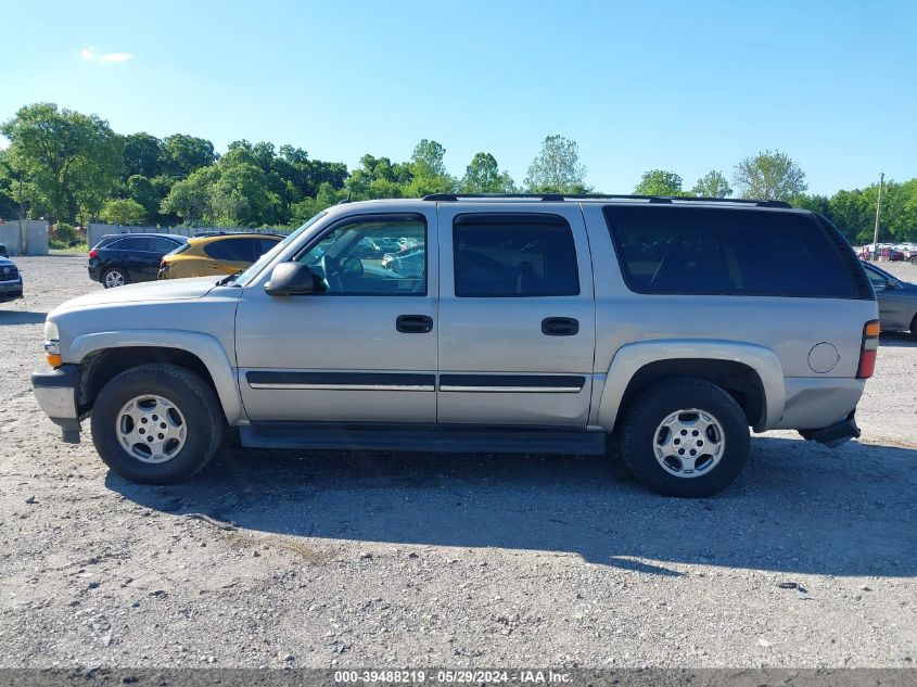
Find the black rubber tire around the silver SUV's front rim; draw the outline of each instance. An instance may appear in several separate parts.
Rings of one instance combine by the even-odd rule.
[[[118,440],[118,414],[144,394],[162,396],[183,416],[184,445],[164,462],[144,462]],[[92,407],[92,442],[114,472],[140,484],[176,484],[194,476],[214,457],[226,420],[216,395],[193,372],[175,365],[141,365],[122,372],[99,392]]]

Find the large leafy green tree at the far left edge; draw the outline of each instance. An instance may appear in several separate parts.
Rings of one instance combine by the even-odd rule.
[[[10,139],[12,167],[55,219],[98,212],[120,173],[122,142],[97,115],[53,103],[26,105],[0,133]]]

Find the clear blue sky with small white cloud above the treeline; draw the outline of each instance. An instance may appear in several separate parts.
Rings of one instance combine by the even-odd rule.
[[[614,193],[766,149],[814,193],[917,176],[914,0],[0,0],[0,120],[50,101],[349,167],[428,138],[451,174],[487,151],[517,182],[560,133]]]

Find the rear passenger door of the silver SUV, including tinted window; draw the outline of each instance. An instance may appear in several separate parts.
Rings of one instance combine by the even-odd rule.
[[[577,205],[440,205],[437,421],[587,423],[593,275]]]

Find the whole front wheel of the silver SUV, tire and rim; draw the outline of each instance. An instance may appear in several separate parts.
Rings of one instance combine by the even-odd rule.
[[[141,365],[110,381],[95,398],[95,450],[120,476],[175,484],[209,462],[222,437],[222,412],[211,387],[175,365]]]

